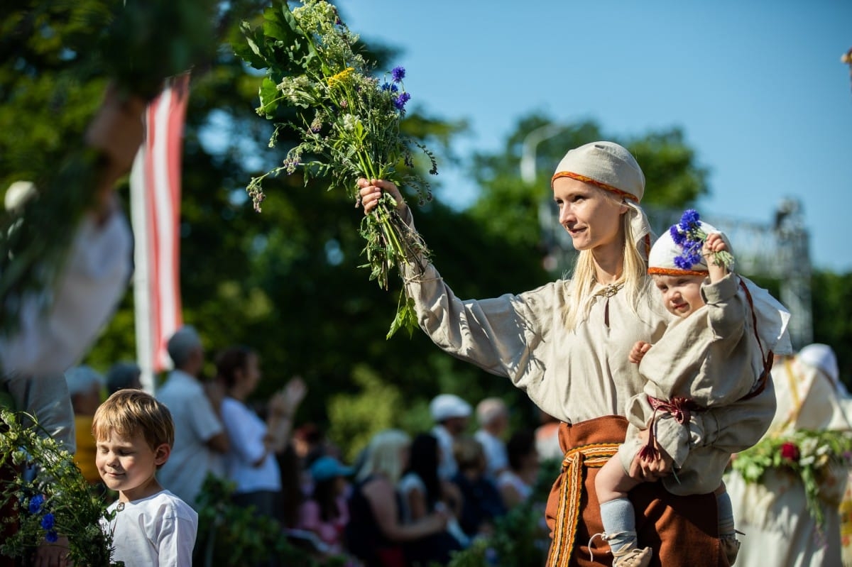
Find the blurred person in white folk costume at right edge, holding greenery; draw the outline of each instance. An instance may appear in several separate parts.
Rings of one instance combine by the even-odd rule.
[[[776,359],[772,381],[778,409],[765,438],[786,438],[809,431],[852,432],[849,398],[844,395],[837,361],[828,346],[804,346],[796,356]],[[806,458],[804,444],[801,451],[800,458]],[[734,502],[737,527],[746,533],[738,567],[852,564],[843,556],[841,543],[838,507],[842,506],[849,475],[838,465],[842,460],[829,461],[816,471],[821,524],[809,513],[801,478],[785,467],[769,467],[759,483],[746,483],[735,469],[728,472],[725,484]]]

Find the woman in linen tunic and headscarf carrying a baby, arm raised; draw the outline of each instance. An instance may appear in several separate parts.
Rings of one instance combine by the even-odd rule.
[[[407,293],[419,324],[432,341],[455,357],[509,377],[544,412],[561,421],[562,472],[550,493],[546,517],[552,531],[548,564],[609,565],[607,549],[592,550],[590,536],[602,531],[595,492],[599,467],[625,440],[625,407],[644,381],[628,355],[636,341],[654,343],[671,323],[647,273],[650,227],[639,201],[645,177],[624,147],[592,142],[567,152],[551,182],[559,221],[580,251],[573,279],[546,283],[519,295],[462,301],[426,261],[405,268]],[[410,223],[399,189],[385,180],[360,180],[366,213],[382,192],[396,200]],[[704,432],[698,444],[751,446],[767,418],[763,392],[744,402],[743,415],[728,408],[695,415]],[[769,411],[769,415],[772,411]],[[737,423],[738,427],[729,427]],[[657,443],[674,452],[677,437],[662,430]],[[663,460],[630,465],[631,476],[652,480],[671,471]],[[659,483],[642,484],[630,499],[640,541],[652,547],[652,565],[722,566],[714,495],[676,496]]]

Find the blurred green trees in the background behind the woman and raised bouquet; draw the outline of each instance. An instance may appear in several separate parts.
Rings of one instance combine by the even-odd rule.
[[[82,139],[107,80],[83,54],[97,49],[98,30],[121,5],[23,0],[0,7],[3,186],[37,177]],[[184,318],[200,329],[211,355],[206,374],[213,374],[213,355],[223,347],[256,348],[264,372],[257,398],[302,375],[309,392],[297,422],[332,424],[335,442],[346,450],[366,443],[366,432],[379,425],[412,432],[429,427],[426,405],[439,392],[457,393],[472,404],[501,396],[516,422],[536,423],[533,405],[508,380],[446,356],[422,333],[385,340],[400,282],[386,293],[368,281],[359,267],[362,213],[342,193],[319,181],[304,186],[298,176],[281,176],[266,183],[262,213],[252,209],[245,186],[289,147],[286,140],[275,150],[267,147],[270,123],[255,112],[261,78],[230,47],[240,40],[239,22],[256,19],[265,6],[260,0],[222,4],[215,26],[220,49],[192,74],[183,149],[181,292]],[[380,60],[379,68],[393,66],[393,49],[361,49]],[[441,163],[458,159],[450,148],[465,124],[416,111],[413,106],[403,125],[438,154],[433,179],[440,183]],[[470,209],[438,201],[414,207],[417,228],[459,297],[517,293],[552,278],[542,265],[538,223],[541,203],[550,201],[550,174],[568,147],[619,137],[592,122],[567,125],[538,146],[538,179],[528,186],[519,173],[523,141],[550,122],[540,114],[521,118],[502,152],[473,157],[481,196]],[[707,191],[705,169],[680,131],[619,141],[636,152],[648,174],[643,202],[682,207]],[[126,184],[119,194],[126,198]],[[836,311],[832,305],[820,307],[822,317]],[[116,360],[135,358],[133,321],[129,290],[86,362],[106,370]],[[820,320],[815,327],[820,329]]]

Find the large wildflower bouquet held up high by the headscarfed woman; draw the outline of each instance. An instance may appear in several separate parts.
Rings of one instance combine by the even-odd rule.
[[[273,0],[261,27],[243,22],[242,30],[245,44],[235,45],[235,51],[251,66],[266,70],[257,112],[276,121],[269,145],[275,145],[282,129],[291,129],[301,140],[283,163],[250,180],[247,190],[257,210],[264,198],[262,181],[297,169],[306,184],[312,177],[327,177],[329,188],[342,188],[356,206],[361,177],[414,186],[421,202],[431,198],[429,183],[412,173],[412,146],[429,158],[433,175],[435,157],[400,133],[411,99],[403,83],[405,69],[395,67],[375,76],[373,66],[355,50],[358,36],[331,3],[307,0],[291,10],[286,0]],[[285,109],[288,118],[279,118]],[[429,255],[423,240],[397,215],[389,195],[365,216],[360,233],[366,239],[368,262],[362,267],[371,269],[370,278],[383,289],[394,267]],[[411,301],[402,292],[388,336],[416,326]]]

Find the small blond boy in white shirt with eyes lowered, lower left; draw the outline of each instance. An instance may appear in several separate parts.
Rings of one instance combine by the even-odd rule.
[[[199,516],[157,481],[175,439],[171,414],[141,390],[119,390],[95,412],[95,465],[107,488],[118,491],[102,520],[112,531],[113,559],[135,565],[192,565]]]

